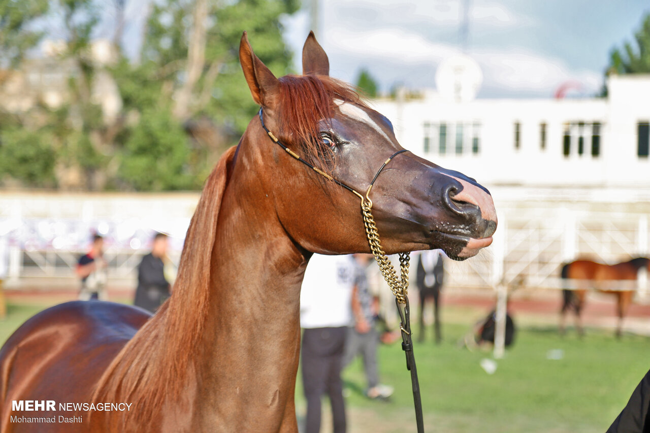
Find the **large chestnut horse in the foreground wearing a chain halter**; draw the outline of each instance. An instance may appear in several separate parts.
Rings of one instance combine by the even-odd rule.
[[[355,190],[402,150],[389,120],[328,76],[309,34],[304,75],[277,79],[246,33],[240,62],[266,127],[304,161]],[[205,182],[171,298],[149,317],[110,302],[38,313],[0,352],[0,430],[297,432],[300,284],[309,257],[370,252],[359,198],[248,125]],[[385,252],[442,248],[465,259],[491,243],[489,192],[459,172],[400,153],[376,179]],[[130,410],[20,412],[12,400],[131,404]],[[10,417],[77,415],[79,423]],[[25,418],[27,419],[27,418]]]

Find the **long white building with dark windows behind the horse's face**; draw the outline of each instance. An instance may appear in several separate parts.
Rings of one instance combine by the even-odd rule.
[[[486,186],[650,188],[650,75],[606,98],[380,99],[405,148]]]

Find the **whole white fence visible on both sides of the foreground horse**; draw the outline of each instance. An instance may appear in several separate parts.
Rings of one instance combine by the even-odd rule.
[[[491,192],[499,214],[494,243],[473,259],[447,261],[449,286],[492,288],[521,280],[528,287],[559,288],[564,262],[650,255],[648,189]],[[8,261],[14,283],[73,278],[71,268],[90,233],[99,230],[107,236],[112,277],[133,278],[155,230],[172,235],[172,255],[178,256],[197,201],[196,193],[0,194],[0,268]]]

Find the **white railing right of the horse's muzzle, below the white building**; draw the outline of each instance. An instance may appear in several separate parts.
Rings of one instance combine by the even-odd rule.
[[[493,245],[471,260],[447,261],[448,285],[494,287],[521,282],[529,287],[561,289],[567,284],[560,280],[564,263],[584,257],[614,264],[648,254],[645,213],[506,206],[497,209],[499,228]],[[640,283],[645,284],[643,279],[634,284]],[[622,284],[628,287],[631,283]]]

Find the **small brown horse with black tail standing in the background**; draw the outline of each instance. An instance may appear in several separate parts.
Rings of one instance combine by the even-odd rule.
[[[562,267],[562,279],[577,280],[577,288],[573,290],[562,290],[562,309],[560,310],[560,333],[564,334],[566,313],[573,310],[575,313],[576,328],[579,335],[584,335],[582,328],[582,308],[588,289],[595,289],[602,293],[610,293],[616,296],[616,311],[618,324],[616,335],[620,337],[623,332],[623,319],[627,315],[627,309],[632,303],[634,289],[615,290],[612,284],[616,281],[636,280],[640,269],[650,270],[650,259],[637,257],[629,261],[617,263],[616,265],[604,265],[590,260],[576,260],[567,263]]]

